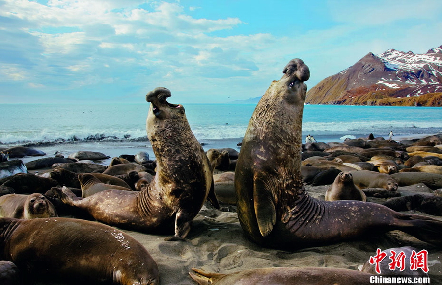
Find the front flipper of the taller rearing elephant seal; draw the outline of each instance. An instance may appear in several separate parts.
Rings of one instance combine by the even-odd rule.
[[[270,234],[276,222],[275,196],[259,174],[254,177],[253,201],[259,231],[263,237]]]

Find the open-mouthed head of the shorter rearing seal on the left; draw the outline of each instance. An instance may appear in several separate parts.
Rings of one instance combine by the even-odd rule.
[[[184,107],[180,104],[170,104],[167,98],[172,94],[164,87],[157,87],[146,95],[146,101],[151,103],[149,114],[152,113],[158,119],[167,119],[170,116],[184,114]]]

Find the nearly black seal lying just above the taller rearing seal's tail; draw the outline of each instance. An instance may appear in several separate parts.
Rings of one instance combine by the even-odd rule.
[[[416,210],[435,216],[442,216],[442,197],[424,194],[414,194],[391,198],[382,205],[394,211]]]

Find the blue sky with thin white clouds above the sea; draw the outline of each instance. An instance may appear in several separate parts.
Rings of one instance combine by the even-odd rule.
[[[173,103],[264,94],[292,58],[309,88],[389,48],[442,45],[440,0],[0,0],[0,103]]]

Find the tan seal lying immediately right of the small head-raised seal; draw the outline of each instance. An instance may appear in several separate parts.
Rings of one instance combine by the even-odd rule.
[[[370,170],[351,171],[353,182],[360,188],[385,188],[390,191],[397,191],[398,183],[394,178],[385,173],[374,172]]]

